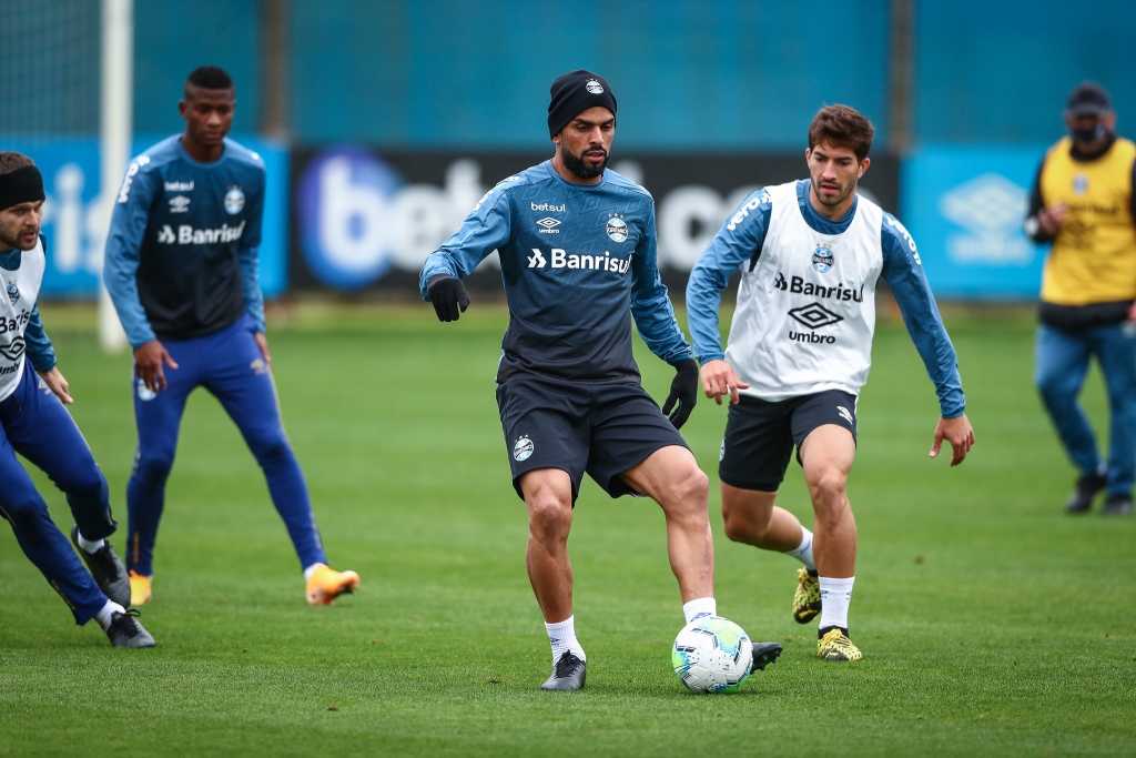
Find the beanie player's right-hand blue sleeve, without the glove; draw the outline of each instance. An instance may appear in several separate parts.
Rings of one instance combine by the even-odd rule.
[[[691,345],[678,328],[667,288],[659,277],[657,248],[652,206],[646,232],[632,256],[632,316],[651,352],[674,365],[691,357]]]

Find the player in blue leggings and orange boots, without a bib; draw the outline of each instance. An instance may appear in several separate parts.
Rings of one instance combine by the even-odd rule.
[[[139,443],[126,489],[131,601],[151,597],[153,544],[190,392],[206,388],[236,423],[268,480],[300,556],[311,605],[359,586],[327,567],[308,485],[281,423],[265,338],[257,251],[265,200],[260,156],[225,135],[233,80],[197,68],[178,103],[185,133],[134,159],[107,240],[107,290],[134,348]]]

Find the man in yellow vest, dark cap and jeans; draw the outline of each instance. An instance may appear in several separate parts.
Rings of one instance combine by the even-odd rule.
[[[1066,502],[1130,516],[1136,481],[1136,144],[1117,136],[1117,114],[1095,82],[1066,102],[1070,136],[1037,170],[1026,232],[1052,242],[1042,277],[1035,382],[1066,452],[1080,469]],[[1109,460],[1077,395],[1096,356],[1109,392]]]

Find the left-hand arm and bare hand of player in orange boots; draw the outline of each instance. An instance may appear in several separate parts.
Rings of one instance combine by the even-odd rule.
[[[162,365],[177,368],[166,348],[158,341],[139,297],[137,270],[142,255],[142,238],[150,220],[150,209],[157,197],[154,173],[140,169],[144,164],[135,159],[127,169],[130,183],[123,182],[115,209],[110,215],[110,231],[102,264],[102,281],[115,303],[118,320],[126,339],[134,348],[134,370],[145,385],[157,392],[166,389]]]

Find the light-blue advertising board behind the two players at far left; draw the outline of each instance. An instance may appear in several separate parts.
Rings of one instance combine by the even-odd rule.
[[[139,155],[164,139],[139,136]],[[287,289],[289,152],[281,144],[256,136],[234,136],[260,153],[268,172],[265,218],[260,243],[260,289],[266,298]],[[48,268],[42,293],[55,298],[93,298],[99,291],[103,244],[109,218],[99,201],[99,141],[90,139],[0,139],[0,149],[30,156],[43,174],[43,234],[48,239]]]

